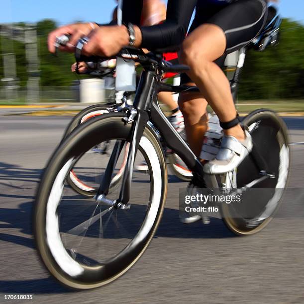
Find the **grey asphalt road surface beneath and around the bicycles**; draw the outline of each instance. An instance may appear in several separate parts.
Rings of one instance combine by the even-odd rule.
[[[42,168],[71,118],[0,117],[0,303],[304,303],[304,223],[274,219],[260,233],[236,237],[213,219],[179,223],[178,189],[169,176],[160,228],[143,257],[100,289],[71,292],[35,253],[31,208]],[[304,119],[287,118],[292,142]],[[292,146],[290,187],[304,185],[304,145]],[[4,295],[33,295],[5,301]]]

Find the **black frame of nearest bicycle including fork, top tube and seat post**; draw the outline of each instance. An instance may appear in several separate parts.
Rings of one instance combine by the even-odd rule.
[[[240,50],[239,61],[234,73],[233,79],[230,81],[231,92],[234,100],[236,100],[239,76],[241,74],[243,64],[246,56],[246,48]],[[126,166],[124,168],[122,186],[119,193],[117,203],[127,204],[130,198],[130,186],[132,180],[132,168],[134,165],[134,159],[139,146],[140,139],[146,128],[147,122],[150,120],[156,127],[166,145],[176,152],[182,160],[186,163],[188,168],[201,180],[206,182],[208,187],[218,187],[218,183],[215,175],[208,175],[208,179],[205,178],[203,173],[203,165],[198,157],[192,152],[187,143],[181,138],[179,133],[171,125],[169,120],[163,114],[157,101],[157,93],[159,91],[168,92],[199,92],[198,87],[192,86],[173,86],[162,83],[157,80],[158,71],[155,65],[150,64],[145,66],[145,70],[142,72],[140,81],[136,90],[135,99],[133,102],[133,110],[136,115],[126,123],[132,123],[130,132],[130,145],[127,155]],[[121,147],[114,147],[114,153],[121,152]],[[112,154],[114,154],[112,153]],[[253,149],[251,156],[254,163],[260,171],[267,172],[267,164],[261,159],[259,153]],[[117,157],[111,157],[106,168],[106,174],[111,176],[116,164]],[[104,178],[101,182],[98,195],[106,195],[109,189],[110,178]]]

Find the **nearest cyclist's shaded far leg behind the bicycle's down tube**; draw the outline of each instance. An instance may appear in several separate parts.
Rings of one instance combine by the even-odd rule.
[[[185,85],[193,86],[195,83],[185,83]],[[201,93],[181,93],[179,107],[184,115],[187,141],[192,151],[199,157],[203,137],[208,129],[207,101]]]

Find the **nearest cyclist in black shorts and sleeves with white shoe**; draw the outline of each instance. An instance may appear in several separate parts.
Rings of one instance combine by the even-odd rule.
[[[185,38],[195,8],[196,17]],[[180,98],[188,141],[199,156],[209,103],[224,137],[216,157],[205,164],[204,170],[214,174],[231,171],[251,151],[252,140],[239,124],[229,82],[216,61],[259,34],[267,18],[267,0],[168,0],[166,21],[154,26],[140,25],[141,12],[142,0],[124,0],[123,21],[127,25],[91,22],[64,26],[50,34],[49,50],[55,52],[56,36],[62,34],[72,35],[70,43],[62,47],[68,52],[74,51],[81,36],[90,34],[91,40],[83,49],[88,56],[112,56],[129,45],[153,50],[183,43],[179,59],[190,67],[186,81],[194,81],[201,91],[197,96],[184,94]]]

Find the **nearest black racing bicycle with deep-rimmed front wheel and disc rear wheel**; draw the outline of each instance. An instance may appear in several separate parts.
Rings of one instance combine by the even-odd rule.
[[[245,53],[243,48],[242,61]],[[185,72],[188,67],[169,65],[162,60],[161,51],[143,54],[125,49],[118,56],[132,58],[144,67],[133,106],[125,104],[118,112],[92,118],[76,128],[49,160],[36,195],[37,250],[49,272],[74,289],[100,287],[120,277],[143,254],[158,228],[166,200],[167,166],[159,137],[147,124],[149,120],[202,185],[220,191],[245,191],[257,186],[273,189],[266,204],[252,218],[236,216],[237,210],[219,204],[224,223],[237,235],[254,234],[270,222],[282,201],[283,193],[277,190],[288,182],[288,132],[275,112],[259,109],[242,121],[251,133],[254,147],[237,170],[219,176],[205,174],[203,164],[166,119],[156,98],[159,90],[198,91],[196,87],[161,82],[162,72]],[[232,87],[237,87],[241,69],[239,64]],[[112,152],[104,154],[106,159],[98,164],[99,172],[104,173],[98,173],[95,199],[73,195],[66,186],[68,173],[77,166],[88,171],[92,159],[82,162],[82,158],[101,143],[107,143]],[[122,155],[125,146],[127,157]],[[133,172],[134,164],[142,159],[149,167],[145,175]],[[112,177],[124,161],[120,186],[111,187]],[[272,209],[265,216],[268,200]]]

